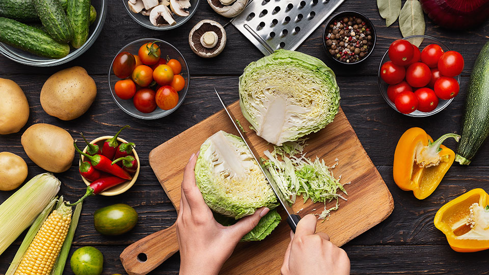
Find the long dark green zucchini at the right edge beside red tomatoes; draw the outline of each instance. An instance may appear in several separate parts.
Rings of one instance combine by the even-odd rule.
[[[489,42],[477,56],[470,76],[465,115],[455,161],[469,165],[489,134]]]

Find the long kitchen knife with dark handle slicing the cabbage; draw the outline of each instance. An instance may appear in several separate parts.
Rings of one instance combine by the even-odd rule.
[[[268,170],[263,167],[261,161],[259,160],[260,155],[255,150],[255,148],[252,146],[248,137],[246,135],[242,134],[241,129],[236,124],[236,118],[233,116],[233,114],[229,110],[228,106],[226,105],[226,103],[224,103],[224,100],[221,98],[221,96],[219,95],[218,91],[215,88],[214,88],[214,91],[215,91],[215,94],[218,96],[219,101],[221,101],[221,104],[223,105],[224,110],[226,111],[226,114],[228,114],[229,119],[231,119],[231,122],[233,123],[234,127],[238,131],[239,136],[241,136],[241,139],[244,141],[244,144],[246,144],[246,146],[250,150],[251,154],[253,155],[253,158],[255,158],[256,162],[259,164],[258,166],[260,167],[261,171],[263,172],[263,175],[265,175],[265,178],[270,183],[271,189],[274,190],[275,195],[277,195],[277,198],[278,198],[280,204],[285,209],[285,213],[287,213],[287,224],[290,226],[290,229],[292,229],[292,231],[295,233],[295,228],[297,227],[297,223],[301,219],[301,216],[294,214],[292,207],[290,207],[290,205],[288,204],[287,199],[284,197],[284,195],[280,191],[280,189],[277,186],[277,183],[275,182],[274,178],[270,175],[270,172],[268,172]]]

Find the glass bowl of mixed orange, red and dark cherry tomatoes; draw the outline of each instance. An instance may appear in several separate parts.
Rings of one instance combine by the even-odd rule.
[[[116,104],[139,119],[173,113],[185,99],[190,74],[170,43],[144,38],[124,46],[112,61],[108,84]]]

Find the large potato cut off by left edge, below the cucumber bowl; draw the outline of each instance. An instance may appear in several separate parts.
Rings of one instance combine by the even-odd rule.
[[[0,134],[20,131],[29,119],[29,103],[12,80],[0,78]]]

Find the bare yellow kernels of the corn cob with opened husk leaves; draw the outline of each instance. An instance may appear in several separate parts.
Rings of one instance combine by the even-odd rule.
[[[15,275],[47,275],[55,265],[71,223],[71,207],[63,203],[44,221],[20,261]]]

